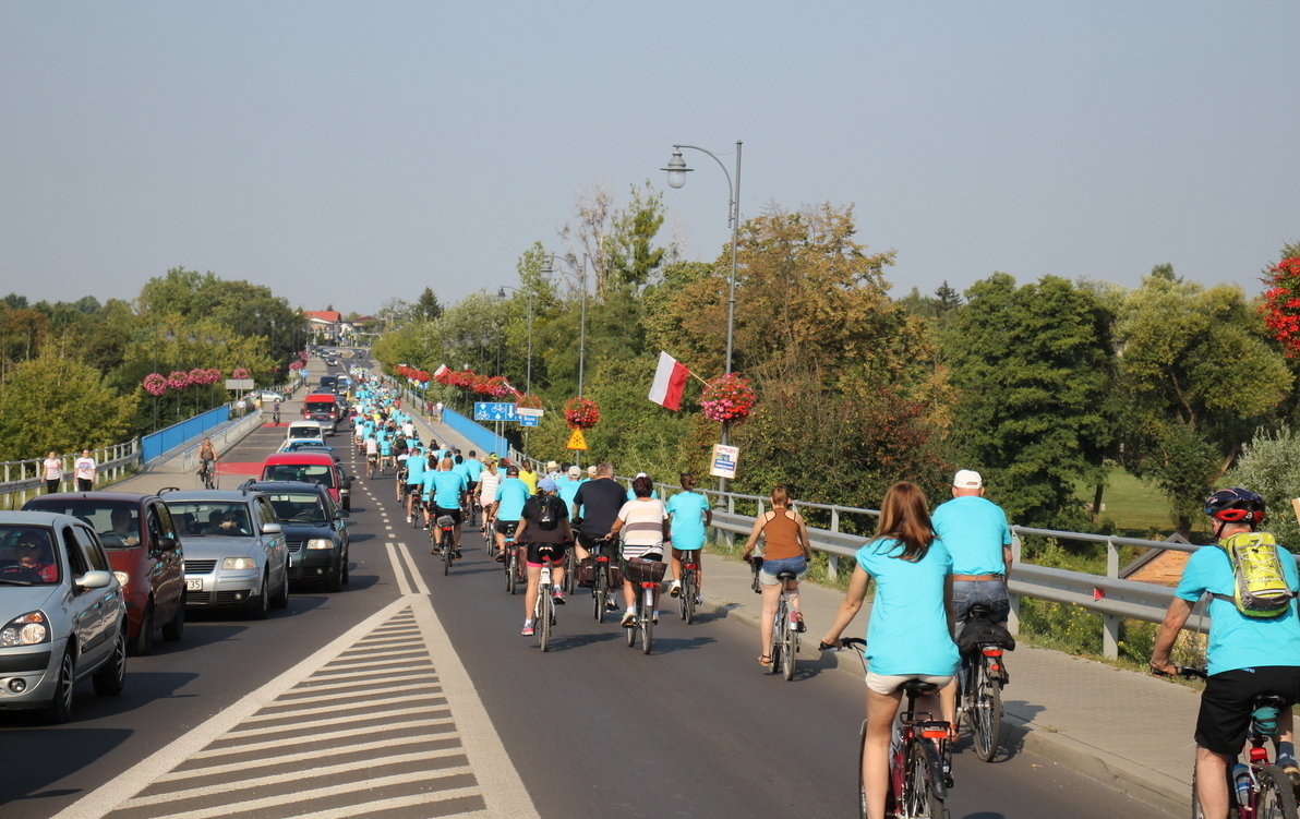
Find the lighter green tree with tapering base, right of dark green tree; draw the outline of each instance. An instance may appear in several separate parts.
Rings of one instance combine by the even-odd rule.
[[[1162,265],[1122,300],[1123,463],[1169,495],[1179,532],[1256,428],[1291,393],[1286,360],[1240,287],[1209,290]]]

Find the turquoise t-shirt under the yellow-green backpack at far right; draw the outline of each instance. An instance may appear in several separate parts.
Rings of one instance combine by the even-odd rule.
[[[1291,552],[1278,546],[1282,572],[1287,586],[1296,589],[1296,562]],[[1193,551],[1183,568],[1174,594],[1190,603],[1201,599],[1206,592],[1232,597],[1232,562],[1218,546],[1202,546]],[[1273,619],[1248,618],[1236,610],[1236,603],[1210,598],[1210,642],[1205,653],[1209,673],[1254,668],[1257,666],[1300,666],[1300,619],[1296,602],[1287,604],[1287,612]]]

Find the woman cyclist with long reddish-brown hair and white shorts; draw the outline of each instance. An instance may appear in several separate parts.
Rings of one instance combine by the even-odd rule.
[[[840,634],[862,608],[874,577],[876,597],[867,625],[867,736],[862,750],[862,781],[867,816],[884,819],[889,792],[889,736],[907,680],[946,689],[957,672],[948,606],[953,559],[935,538],[926,495],[915,484],[889,488],[880,504],[876,537],[858,550],[849,592],[822,638],[840,645]],[[764,569],[767,568],[764,563]],[[953,724],[953,698],[942,699],[942,715]],[[930,701],[927,705],[926,701]],[[933,697],[918,701],[922,711],[935,711]],[[952,728],[949,728],[952,731]]]

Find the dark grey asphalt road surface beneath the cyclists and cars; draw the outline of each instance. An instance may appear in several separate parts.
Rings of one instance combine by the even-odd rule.
[[[257,430],[225,460],[257,462],[280,437]],[[343,434],[333,443],[350,452]],[[556,637],[542,654],[536,638],[519,634],[523,597],[506,594],[477,530],[467,530],[465,558],[443,577],[422,533],[402,524],[391,477],[369,482],[373,500],[361,484],[364,477],[354,482],[352,569],[343,593],[295,593],[287,610],[257,623],[194,616],[182,642],[159,641],[153,655],[131,658],[121,697],[99,698],[83,684],[66,725],[0,715],[5,819],[55,815],[396,602],[406,582],[390,562],[396,541],[413,555],[437,619],[540,815],[855,815],[861,679],[814,663],[790,682],[767,675],[755,662],[754,630],[712,615],[688,627],[666,611],[654,651],[642,655],[627,647],[612,619],[594,621],[581,593],[558,610]],[[250,759],[247,772],[226,774],[229,786],[257,767]],[[474,775],[490,781],[493,771]],[[992,764],[959,751],[954,776],[954,819],[1152,815],[1015,749]],[[270,807],[261,815],[290,814]]]

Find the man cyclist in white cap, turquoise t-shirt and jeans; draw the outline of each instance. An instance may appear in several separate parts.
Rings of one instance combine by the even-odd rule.
[[[974,469],[953,477],[953,499],[939,504],[931,523],[953,556],[953,621],[962,633],[971,606],[987,606],[989,621],[1006,623],[1011,603],[1006,573],[1011,568],[1011,526],[1006,512],[984,498],[984,478]],[[953,696],[957,681],[953,680]]]

